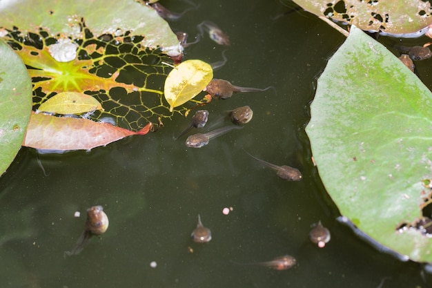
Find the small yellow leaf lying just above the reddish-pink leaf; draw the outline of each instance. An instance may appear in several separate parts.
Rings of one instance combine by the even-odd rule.
[[[97,99],[78,92],[62,92],[43,102],[37,109],[39,112],[56,114],[80,114],[95,110],[103,110]]]

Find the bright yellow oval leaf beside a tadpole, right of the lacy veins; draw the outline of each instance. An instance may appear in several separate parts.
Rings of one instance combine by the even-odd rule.
[[[187,60],[176,66],[165,80],[164,94],[170,112],[197,96],[210,80],[213,69],[201,60]]]

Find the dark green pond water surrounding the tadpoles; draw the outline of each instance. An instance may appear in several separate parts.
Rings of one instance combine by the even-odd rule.
[[[175,11],[187,6],[161,2]],[[90,152],[22,148],[0,178],[0,287],[431,287],[420,264],[380,252],[337,221],[311,161],[308,105],[344,36],[301,10],[275,19],[290,9],[279,1],[202,2],[170,22],[173,30],[193,40],[197,24],[217,23],[231,46],[215,77],[275,92],[213,100],[208,126],[238,106],[251,106],[254,116],[199,149],[186,148],[186,137],[173,140],[188,125],[183,117]],[[224,49],[204,37],[185,59],[213,63]],[[300,169],[302,181],[280,180],[246,151]],[[63,258],[96,204],[108,231]],[[212,231],[208,243],[190,238],[198,214]],[[318,221],[331,231],[323,249],[308,239]],[[297,265],[284,271],[238,264],[286,254]]]

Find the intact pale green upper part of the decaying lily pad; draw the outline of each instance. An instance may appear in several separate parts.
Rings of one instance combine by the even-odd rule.
[[[181,55],[177,36],[157,12],[130,0],[107,1],[43,1],[26,0],[0,6],[0,26],[21,32],[37,32],[43,28],[54,35],[84,38],[82,20],[95,35],[145,35],[144,47],[161,47],[167,55]]]

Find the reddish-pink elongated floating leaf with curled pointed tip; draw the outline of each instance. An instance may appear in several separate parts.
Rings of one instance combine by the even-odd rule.
[[[147,124],[140,131],[132,132],[84,118],[32,114],[23,146],[51,151],[88,150],[130,135],[144,135],[150,128],[151,124]]]

